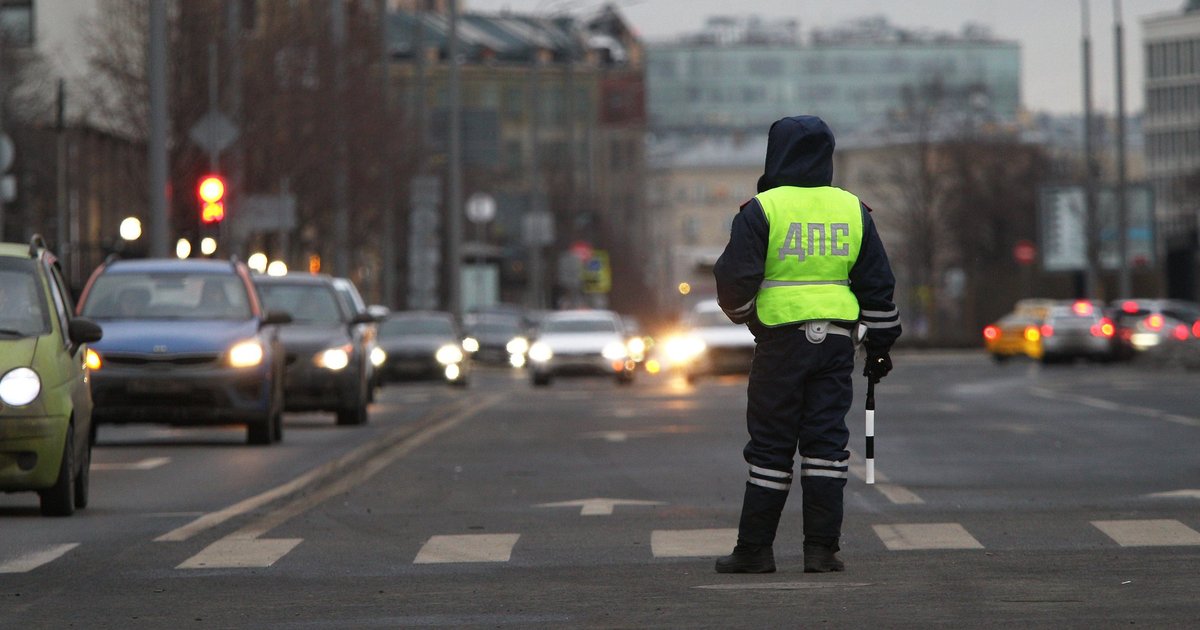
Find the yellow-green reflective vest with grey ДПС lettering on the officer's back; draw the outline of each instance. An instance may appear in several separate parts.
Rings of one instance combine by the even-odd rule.
[[[780,186],[756,199],[770,228],[755,300],[758,320],[767,326],[857,322],[850,270],[863,245],[858,197],[833,186]]]

